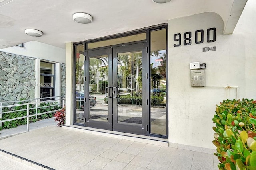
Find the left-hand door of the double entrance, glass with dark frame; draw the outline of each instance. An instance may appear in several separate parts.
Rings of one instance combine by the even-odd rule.
[[[87,52],[85,125],[89,127],[112,130],[112,103],[106,98],[112,85],[110,56],[112,49]]]

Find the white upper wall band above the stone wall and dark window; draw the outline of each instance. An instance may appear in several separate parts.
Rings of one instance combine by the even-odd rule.
[[[66,63],[65,49],[45,43],[40,43],[38,41],[27,42],[25,43],[25,47],[14,46],[0,49],[0,51],[16,55],[23,55],[26,57],[44,59],[48,61]]]

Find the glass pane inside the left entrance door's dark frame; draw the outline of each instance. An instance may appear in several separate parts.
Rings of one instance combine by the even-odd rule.
[[[89,57],[89,119],[108,122],[108,55]]]

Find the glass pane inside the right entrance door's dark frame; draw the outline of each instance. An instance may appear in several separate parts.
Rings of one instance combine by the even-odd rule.
[[[118,122],[142,124],[142,51],[118,53]]]

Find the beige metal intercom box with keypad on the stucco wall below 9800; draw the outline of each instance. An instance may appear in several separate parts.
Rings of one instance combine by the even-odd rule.
[[[205,74],[204,70],[190,70],[191,86],[192,87],[204,87],[205,86]]]

